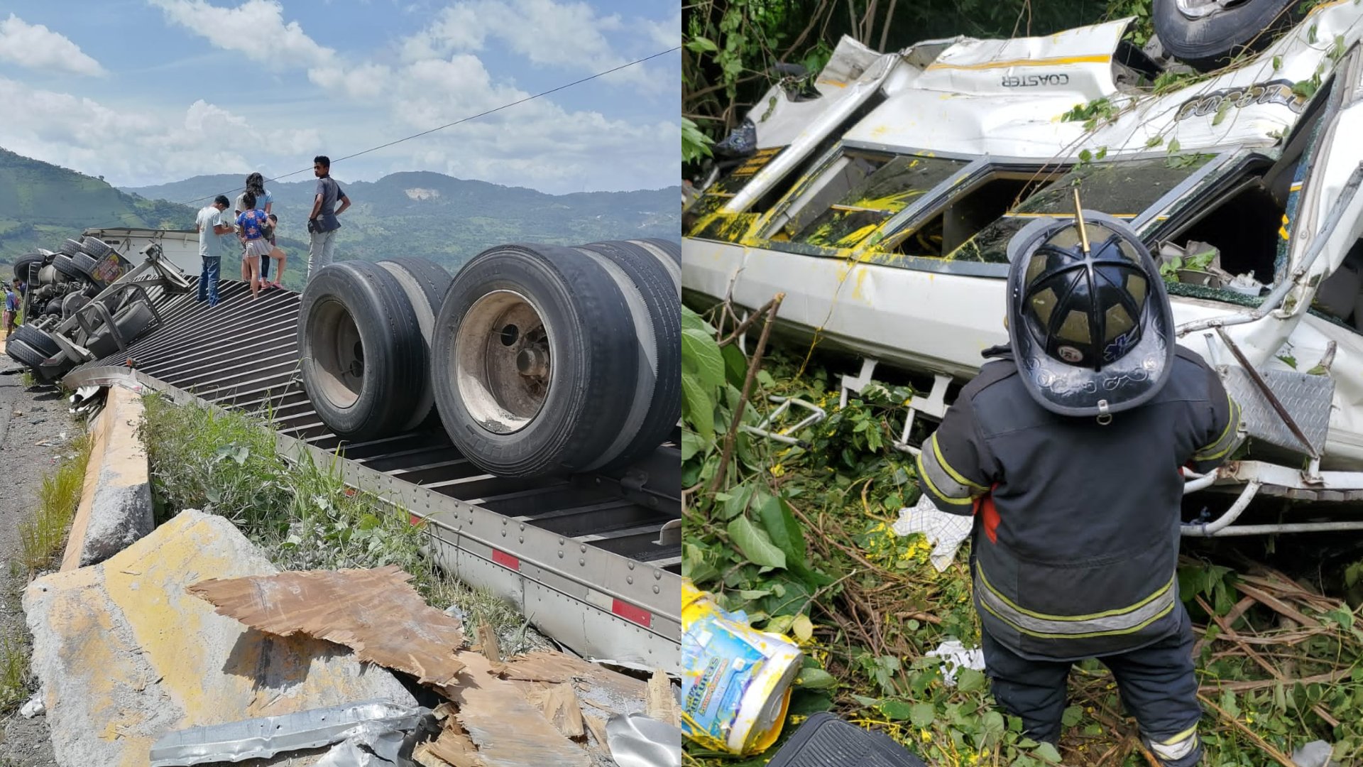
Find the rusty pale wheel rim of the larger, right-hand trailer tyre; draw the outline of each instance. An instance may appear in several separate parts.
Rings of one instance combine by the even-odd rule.
[[[454,385],[493,434],[525,429],[549,396],[553,337],[529,299],[493,291],[473,303],[454,337]]]

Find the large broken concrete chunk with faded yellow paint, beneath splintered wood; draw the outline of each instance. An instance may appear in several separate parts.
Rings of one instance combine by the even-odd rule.
[[[356,700],[416,706],[384,669],[319,639],[251,631],[187,592],[206,573],[275,572],[230,520],[189,509],[104,564],[30,583],[23,609],[57,764],[144,766],[164,733],[199,725]]]

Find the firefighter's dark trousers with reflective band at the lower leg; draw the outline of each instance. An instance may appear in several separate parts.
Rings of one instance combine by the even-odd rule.
[[[1122,704],[1135,717],[1141,738],[1164,767],[1191,767],[1202,760],[1193,673],[1193,622],[1182,603],[1179,631],[1127,652],[1100,656],[1116,678]],[[1071,661],[1033,661],[1013,652],[988,632],[983,635],[984,666],[994,699],[1022,719],[1029,737],[1058,744],[1066,707]]]

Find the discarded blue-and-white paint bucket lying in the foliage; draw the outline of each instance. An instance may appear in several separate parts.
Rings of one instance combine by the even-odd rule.
[[[766,751],[785,722],[801,652],[682,580],[682,732],[713,751]]]

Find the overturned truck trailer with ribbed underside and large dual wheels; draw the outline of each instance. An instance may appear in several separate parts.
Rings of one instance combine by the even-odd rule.
[[[424,523],[439,565],[548,636],[677,671],[677,243],[503,246],[453,278],[342,262],[303,295],[222,283],[211,308],[196,292],[150,291],[154,328],[63,384],[259,414],[282,456]]]

